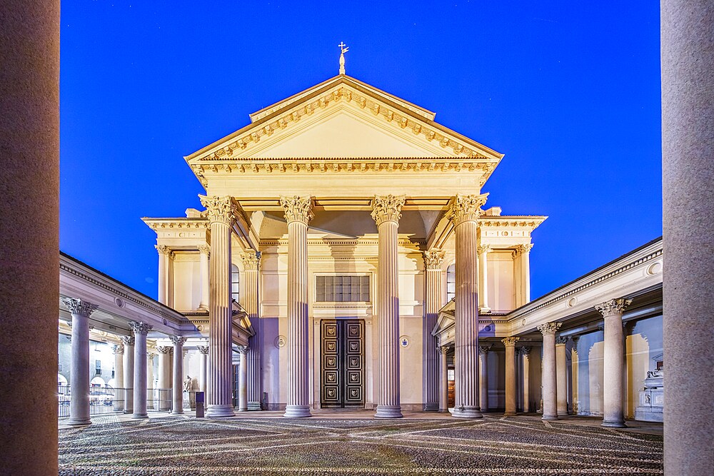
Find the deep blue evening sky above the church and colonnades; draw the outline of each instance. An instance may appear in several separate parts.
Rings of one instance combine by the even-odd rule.
[[[347,74],[505,153],[484,191],[533,235],[533,298],[662,233],[659,4],[63,1],[61,250],[156,297],[183,156]]]

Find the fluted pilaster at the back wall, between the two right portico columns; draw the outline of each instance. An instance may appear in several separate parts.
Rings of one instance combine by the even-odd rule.
[[[439,309],[441,309],[441,263],[444,252],[430,250],[424,252],[424,268],[426,274],[426,319],[424,320],[424,389],[426,390],[426,403],[424,410],[439,409],[439,356],[436,348],[436,338],[431,331],[436,325]]]

